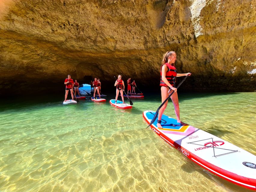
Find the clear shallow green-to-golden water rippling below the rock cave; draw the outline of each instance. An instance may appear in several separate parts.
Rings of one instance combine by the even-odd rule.
[[[112,98],[2,104],[0,191],[248,191],[145,130],[142,112],[156,110],[160,95],[132,99],[132,110],[111,107]],[[179,103],[182,121],[256,155],[255,92],[184,93]],[[175,117],[171,103],[165,114]]]

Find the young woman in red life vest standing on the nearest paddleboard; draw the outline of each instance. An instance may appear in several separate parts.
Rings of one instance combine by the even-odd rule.
[[[176,67],[173,65],[176,61],[176,53],[174,51],[167,51],[163,55],[162,65],[160,68],[160,86],[161,86],[161,95],[162,95],[162,103],[169,96],[168,91],[174,91],[171,99],[173,101],[174,110],[177,118],[177,122],[184,125],[179,118],[179,100],[177,94],[177,88],[175,88],[176,77],[191,75],[191,73],[177,73]],[[168,101],[160,108],[158,113],[157,127],[162,128],[161,126],[161,118],[164,113],[165,108],[167,107]]]

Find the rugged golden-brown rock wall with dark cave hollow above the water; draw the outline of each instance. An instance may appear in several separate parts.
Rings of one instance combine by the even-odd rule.
[[[255,13],[251,0],[2,0],[0,88],[63,90],[67,74],[112,85],[122,74],[159,89],[174,50],[178,72],[192,73],[183,89],[254,91]]]

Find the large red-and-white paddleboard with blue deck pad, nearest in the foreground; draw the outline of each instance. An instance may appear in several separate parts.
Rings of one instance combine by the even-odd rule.
[[[155,111],[144,111],[143,119],[150,124]],[[205,170],[229,182],[256,190],[256,156],[191,125],[181,125],[163,115],[162,128],[155,121],[150,128]]]

